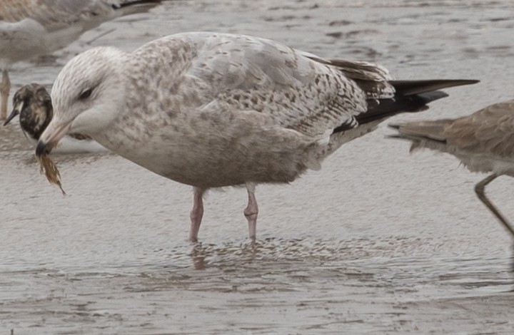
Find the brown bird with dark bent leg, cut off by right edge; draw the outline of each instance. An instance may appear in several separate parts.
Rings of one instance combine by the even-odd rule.
[[[514,177],[514,100],[490,105],[455,119],[418,121],[390,125],[393,138],[412,141],[418,148],[450,153],[472,172],[492,172],[475,185],[478,198],[514,236],[514,229],[485,196],[485,186],[500,175]]]

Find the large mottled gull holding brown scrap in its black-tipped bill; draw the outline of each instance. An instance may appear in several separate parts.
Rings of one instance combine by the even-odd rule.
[[[66,64],[36,154],[68,132],[83,133],[193,186],[192,241],[203,193],[246,185],[254,239],[256,184],[292,182],[381,120],[445,96],[434,90],[469,83],[391,81],[381,66],[323,59],[263,38],[180,33],[132,53],[93,48]]]

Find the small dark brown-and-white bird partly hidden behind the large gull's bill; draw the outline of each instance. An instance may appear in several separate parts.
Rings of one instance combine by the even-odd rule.
[[[13,106],[12,113],[4,125],[19,115],[21,130],[35,147],[54,115],[50,94],[44,86],[31,83],[22,86],[14,93]],[[105,153],[108,151],[89,136],[75,133],[65,135],[52,153]]]

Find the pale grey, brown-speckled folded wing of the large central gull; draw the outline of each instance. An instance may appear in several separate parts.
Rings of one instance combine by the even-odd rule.
[[[367,93],[331,61],[251,36],[188,33],[155,43],[173,48],[177,41],[193,46],[185,56],[183,76],[203,82],[202,94],[211,97],[203,110],[253,110],[275,125],[316,139],[326,138],[339,125],[356,125],[355,115],[366,112]],[[346,65],[356,68],[356,63]],[[384,87],[376,96],[391,96],[387,72],[366,66]]]

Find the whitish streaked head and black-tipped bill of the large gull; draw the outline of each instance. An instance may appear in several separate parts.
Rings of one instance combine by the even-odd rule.
[[[114,121],[124,100],[126,53],[98,47],[79,54],[54,82],[54,117],[36,146],[36,155],[50,153],[66,133],[94,138]]]

